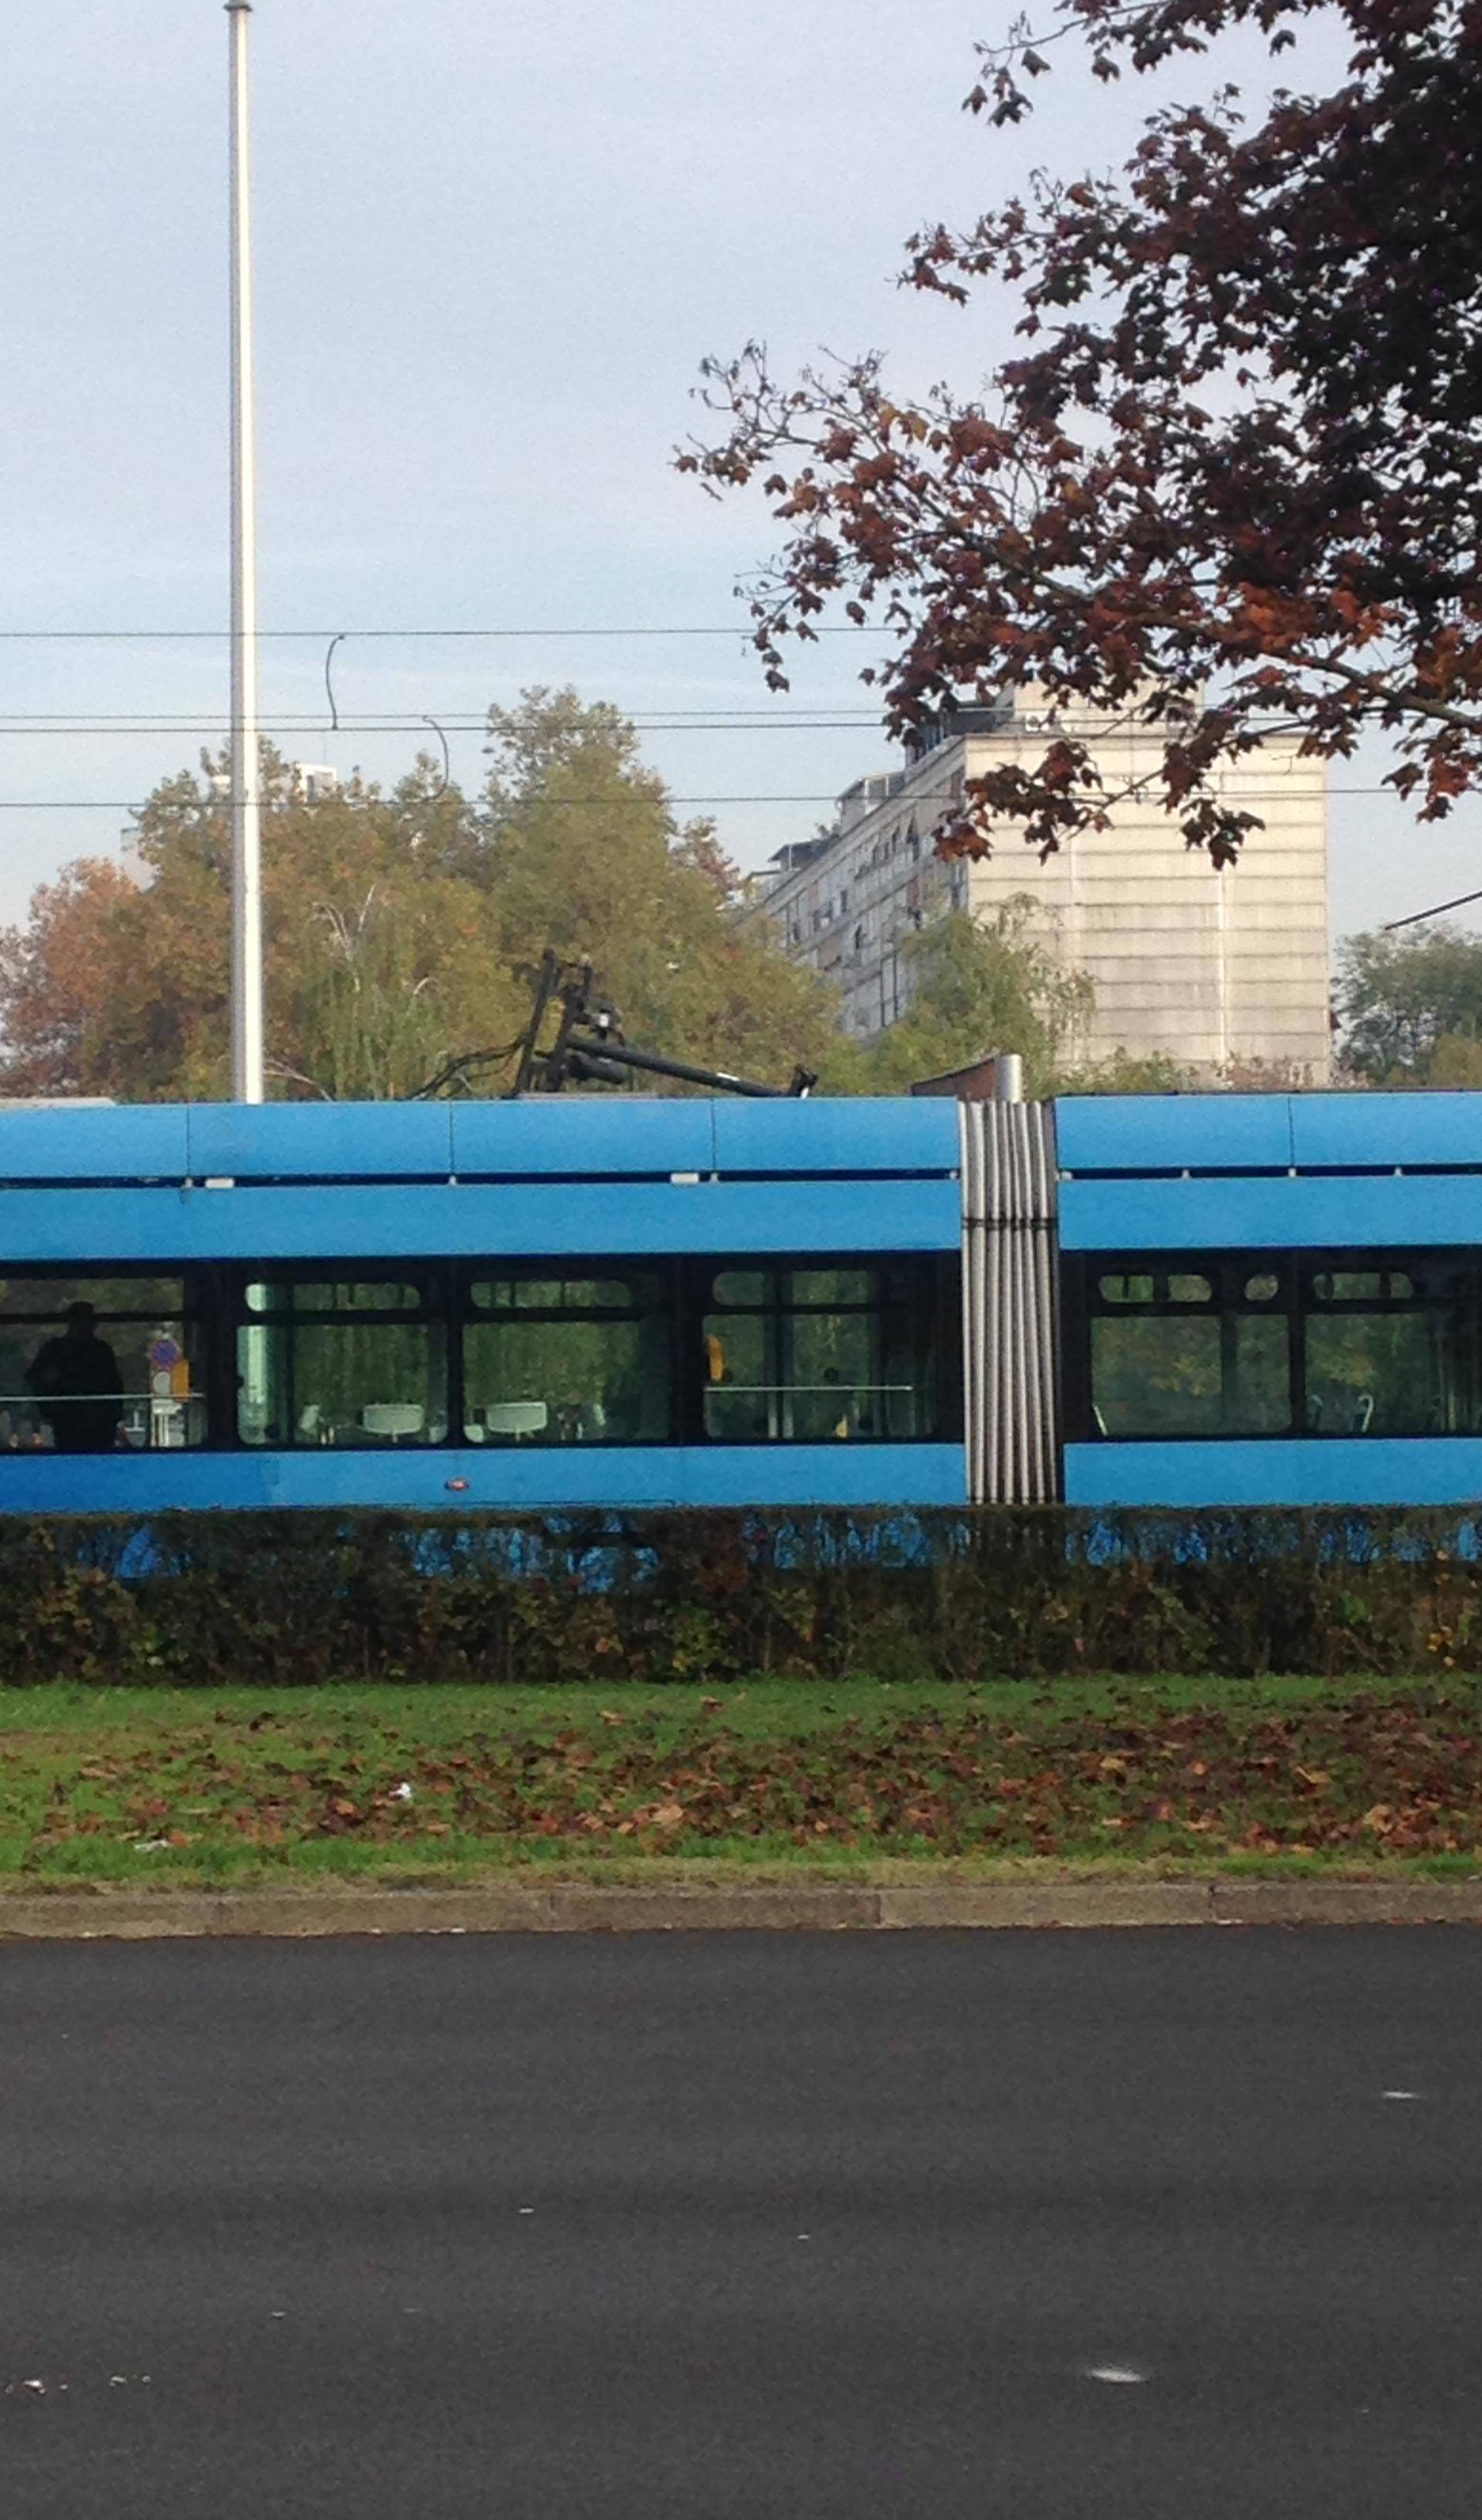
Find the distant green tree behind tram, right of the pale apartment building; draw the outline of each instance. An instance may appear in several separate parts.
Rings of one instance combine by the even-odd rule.
[[[1482,1084],[1482,937],[1459,927],[1338,948],[1343,1068],[1369,1086]]]

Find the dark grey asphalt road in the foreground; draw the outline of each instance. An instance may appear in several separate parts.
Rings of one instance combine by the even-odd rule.
[[[0,2024],[5,2520],[1477,2510],[1477,1933],[8,1945]]]

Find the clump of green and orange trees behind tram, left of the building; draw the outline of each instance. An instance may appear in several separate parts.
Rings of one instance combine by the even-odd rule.
[[[834,993],[741,925],[713,829],[675,827],[615,708],[534,690],[489,731],[479,799],[423,759],[388,794],[353,779],[310,801],[265,756],[272,1091],[396,1099],[451,1056],[512,1043],[547,945],[592,958],[643,1046],[779,1084],[839,1056]],[[229,1091],[219,761],[154,791],[139,859],[144,885],[106,859],[68,867],[0,935],[0,1091]]]

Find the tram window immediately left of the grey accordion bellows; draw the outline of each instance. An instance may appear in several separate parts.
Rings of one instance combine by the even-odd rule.
[[[930,1268],[716,1270],[703,1341],[716,1444],[902,1444],[938,1431]]]

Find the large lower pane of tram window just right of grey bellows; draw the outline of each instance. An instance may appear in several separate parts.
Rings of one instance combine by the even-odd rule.
[[[1285,1315],[1101,1313],[1091,1320],[1091,1401],[1109,1436],[1283,1434]]]

